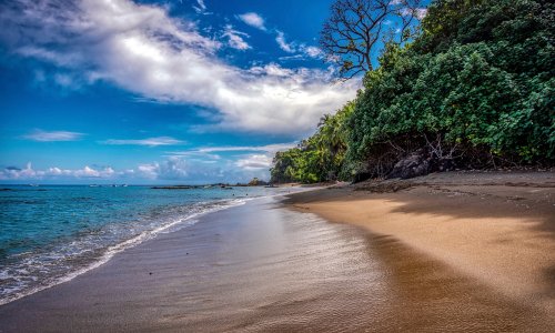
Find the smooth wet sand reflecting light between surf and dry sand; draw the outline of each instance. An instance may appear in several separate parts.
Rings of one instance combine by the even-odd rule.
[[[0,306],[0,332],[553,327],[536,307],[394,236],[329,223],[280,199],[208,214],[70,282]]]

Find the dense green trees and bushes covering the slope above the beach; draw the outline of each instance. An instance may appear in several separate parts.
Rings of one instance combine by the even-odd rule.
[[[272,181],[385,176],[414,151],[435,165],[553,165],[554,26],[547,0],[433,1],[354,101],[275,155]]]

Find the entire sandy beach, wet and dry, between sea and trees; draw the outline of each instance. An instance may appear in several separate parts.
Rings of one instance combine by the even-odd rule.
[[[535,179],[252,200],[0,306],[0,332],[553,332]]]

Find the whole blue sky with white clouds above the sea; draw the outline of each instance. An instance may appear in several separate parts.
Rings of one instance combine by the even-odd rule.
[[[0,183],[269,179],[352,100],[317,37],[331,0],[0,3]]]

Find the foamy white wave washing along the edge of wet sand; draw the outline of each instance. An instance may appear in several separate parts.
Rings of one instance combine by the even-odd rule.
[[[201,215],[241,205],[252,199],[161,206],[147,213],[135,224],[111,223],[42,253],[20,253],[11,263],[0,268],[0,305],[71,281],[107,263],[117,253],[160,233],[193,225]],[[108,240],[102,236],[108,236]]]

